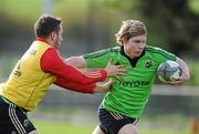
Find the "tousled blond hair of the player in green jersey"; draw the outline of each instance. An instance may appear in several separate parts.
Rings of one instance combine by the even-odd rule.
[[[115,34],[118,44],[123,45],[124,41],[129,40],[132,37],[136,35],[147,35],[147,30],[145,24],[137,20],[126,20],[119,31]]]

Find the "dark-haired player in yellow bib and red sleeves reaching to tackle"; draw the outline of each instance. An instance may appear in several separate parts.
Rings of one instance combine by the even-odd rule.
[[[106,92],[113,81],[103,85],[96,82],[124,74],[122,65],[111,62],[104,70],[92,72],[82,72],[67,64],[59,54],[63,41],[60,18],[40,17],[34,32],[36,40],[19,60],[8,81],[0,84],[0,134],[36,134],[25,113],[35,109],[52,83],[82,93]]]

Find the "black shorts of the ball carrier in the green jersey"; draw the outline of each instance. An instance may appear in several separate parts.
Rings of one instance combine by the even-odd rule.
[[[136,124],[138,120],[132,118],[119,113],[111,112],[100,106],[98,109],[100,127],[105,134],[118,134],[118,131],[126,124]]]

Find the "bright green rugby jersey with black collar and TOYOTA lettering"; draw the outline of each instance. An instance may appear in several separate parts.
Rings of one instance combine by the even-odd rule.
[[[159,64],[166,60],[176,61],[176,55],[149,45],[146,45],[139,58],[133,60],[124,53],[123,47],[84,55],[88,68],[105,68],[111,58],[114,64],[125,65],[128,74],[121,76],[122,82],[115,80],[103,100],[103,106],[129,117],[139,117],[148,101]]]

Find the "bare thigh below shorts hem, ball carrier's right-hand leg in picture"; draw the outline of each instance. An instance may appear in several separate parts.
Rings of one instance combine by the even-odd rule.
[[[119,131],[118,134],[138,134],[134,124],[126,124]]]

